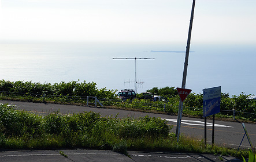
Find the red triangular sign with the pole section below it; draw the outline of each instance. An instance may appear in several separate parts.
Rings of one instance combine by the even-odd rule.
[[[177,128],[176,128],[177,142],[179,142],[181,115],[182,115],[182,109],[183,109],[183,101],[185,100],[185,98],[188,97],[188,95],[190,94],[190,92],[192,90],[185,89],[185,88],[176,88],[176,89],[177,89],[178,94],[180,96],[180,104],[181,104],[181,106],[180,106],[181,109],[179,109],[179,114],[178,114],[178,118],[177,118]]]

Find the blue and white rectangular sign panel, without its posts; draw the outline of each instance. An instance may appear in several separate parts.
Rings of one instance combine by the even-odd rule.
[[[220,113],[221,86],[203,90],[203,117]]]

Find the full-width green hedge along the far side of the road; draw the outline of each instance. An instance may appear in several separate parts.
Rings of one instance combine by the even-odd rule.
[[[134,99],[133,101],[121,101],[116,98],[117,90],[97,88],[97,84],[72,81],[61,83],[32,83],[32,82],[10,82],[0,80],[0,98],[8,100],[28,102],[53,102],[68,104],[86,104],[86,96],[96,96],[104,106],[118,107],[144,112],[176,114],[179,108],[179,95],[175,87],[157,88],[153,87],[147,92],[168,98],[168,102],[150,102],[145,99]],[[141,98],[143,94],[138,94]],[[194,117],[202,117],[203,95],[191,93],[184,101],[183,114]],[[256,121],[256,100],[248,99],[248,95],[242,93],[238,96],[221,93],[221,111],[216,117],[233,118],[233,110],[236,118]]]

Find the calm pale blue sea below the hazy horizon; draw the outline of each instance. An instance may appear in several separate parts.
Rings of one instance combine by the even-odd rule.
[[[153,87],[176,88],[183,79],[186,45],[1,41],[0,79],[51,84],[85,80],[98,88],[129,88],[138,93]],[[255,51],[253,44],[191,43],[185,88],[199,94],[221,86],[230,97],[256,94]]]

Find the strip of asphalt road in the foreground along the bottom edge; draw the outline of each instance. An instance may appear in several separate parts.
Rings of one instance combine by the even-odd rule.
[[[61,155],[61,153],[62,155]],[[219,156],[209,154],[187,154],[187,153],[164,153],[164,152],[128,152],[131,157],[121,155],[113,151],[102,150],[37,150],[37,151],[0,151],[0,161],[27,162],[27,161],[99,161],[99,162],[145,162],[145,161],[177,161],[184,160],[195,162],[232,161],[240,162],[235,157]]]

